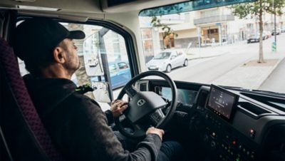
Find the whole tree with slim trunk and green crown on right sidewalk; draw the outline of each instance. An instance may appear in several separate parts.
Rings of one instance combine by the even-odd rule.
[[[258,0],[252,3],[235,4],[232,8],[232,13],[243,19],[249,15],[257,16],[259,19],[259,61],[264,63],[263,48],[262,48],[262,33],[263,33],[263,19],[264,13],[275,14],[280,16],[283,14],[282,9],[285,6],[284,0]]]

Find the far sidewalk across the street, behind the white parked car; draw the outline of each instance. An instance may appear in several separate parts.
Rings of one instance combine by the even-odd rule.
[[[197,58],[209,58],[213,56],[221,56],[223,54],[229,53],[229,50],[239,48],[241,44],[246,44],[246,41],[239,41],[237,43],[222,45],[222,46],[208,46],[202,48],[189,48],[185,51],[188,60]],[[185,49],[186,50],[186,49]]]

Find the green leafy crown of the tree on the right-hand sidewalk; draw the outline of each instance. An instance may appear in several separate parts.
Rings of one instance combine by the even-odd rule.
[[[267,12],[269,14],[276,14],[277,16],[280,16],[281,14],[284,14],[284,12],[282,11],[284,7],[284,0],[259,0],[252,3],[234,4],[231,6],[232,13],[235,16],[239,16],[240,19],[243,19],[248,15],[258,16],[260,9],[262,10],[262,12]]]

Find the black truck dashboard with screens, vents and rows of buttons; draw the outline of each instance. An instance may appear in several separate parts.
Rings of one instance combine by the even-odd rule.
[[[190,115],[191,133],[197,133],[203,160],[285,160],[285,101],[270,95],[175,81],[182,109]],[[143,84],[143,85],[142,85]],[[163,81],[142,81],[171,100]],[[191,126],[191,125],[190,125]]]

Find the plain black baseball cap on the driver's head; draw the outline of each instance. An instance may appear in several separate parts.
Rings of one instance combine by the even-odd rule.
[[[65,38],[83,39],[83,31],[68,31],[67,28],[48,18],[26,19],[16,27],[14,51],[21,60],[36,59],[51,55],[53,48]]]

